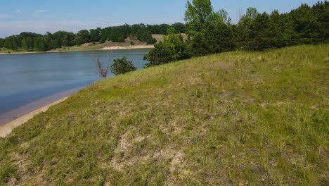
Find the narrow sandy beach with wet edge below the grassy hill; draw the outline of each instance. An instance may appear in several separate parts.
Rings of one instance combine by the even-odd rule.
[[[30,104],[26,104],[24,106],[20,106],[13,111],[9,111],[7,113],[0,115],[0,137],[5,137],[10,134],[14,128],[26,123],[28,120],[32,119],[39,113],[47,111],[51,106],[64,101],[70,95],[75,94],[79,89],[70,89],[65,92],[60,92],[57,94],[53,94],[49,97],[44,97],[37,101],[33,101]]]

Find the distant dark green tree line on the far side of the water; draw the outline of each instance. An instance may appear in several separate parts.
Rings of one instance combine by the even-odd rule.
[[[164,35],[169,27],[174,27],[177,33],[186,32],[186,25],[183,23],[174,23],[172,25],[125,24],[105,28],[97,27],[91,30],[79,30],[76,34],[65,31],[46,32],[46,35],[22,32],[20,35],[12,35],[4,39],[0,38],[0,48],[4,47],[13,51],[48,51],[63,46],[81,45],[89,42],[124,42],[124,39],[128,37],[132,41],[138,40],[147,44],[154,44],[156,40],[152,35]]]

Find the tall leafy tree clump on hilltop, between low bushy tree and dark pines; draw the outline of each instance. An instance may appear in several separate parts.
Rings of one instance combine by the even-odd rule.
[[[231,18],[228,18],[226,11],[214,12],[209,0],[188,1],[186,7],[190,56],[205,56],[234,49]]]

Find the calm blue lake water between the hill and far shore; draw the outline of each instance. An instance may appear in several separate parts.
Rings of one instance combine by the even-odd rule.
[[[100,78],[93,62],[98,55],[103,63],[108,56],[127,56],[141,69],[146,63],[143,56],[149,50],[0,55],[0,115],[58,92],[91,85]]]

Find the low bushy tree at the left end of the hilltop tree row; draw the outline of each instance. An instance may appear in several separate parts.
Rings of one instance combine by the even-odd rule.
[[[188,58],[186,43],[181,35],[177,35],[173,27],[169,27],[164,41],[155,44],[155,48],[151,49],[144,59],[150,61],[146,63],[146,68],[157,66],[171,61],[178,61]]]

